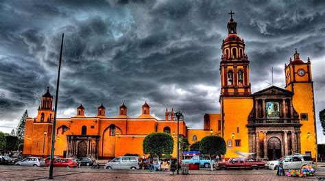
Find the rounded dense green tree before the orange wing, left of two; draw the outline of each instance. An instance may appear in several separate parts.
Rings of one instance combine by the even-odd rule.
[[[165,132],[154,132],[145,136],[143,153],[156,154],[158,159],[163,154],[173,153],[173,137]]]

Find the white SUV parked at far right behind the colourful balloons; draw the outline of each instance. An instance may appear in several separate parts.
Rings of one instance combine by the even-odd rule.
[[[269,161],[266,163],[267,169],[276,169],[278,160]],[[313,158],[309,154],[293,154],[283,157],[283,169],[301,169],[304,165],[314,167]]]

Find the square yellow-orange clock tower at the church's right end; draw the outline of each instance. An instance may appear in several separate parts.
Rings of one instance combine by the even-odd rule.
[[[293,107],[299,114],[301,153],[311,154],[315,157],[317,135],[316,135],[316,119],[315,119],[315,101],[313,90],[313,79],[311,76],[311,60],[307,58],[307,62],[300,59],[297,49],[293,54],[294,60],[285,65],[285,89],[293,92]]]

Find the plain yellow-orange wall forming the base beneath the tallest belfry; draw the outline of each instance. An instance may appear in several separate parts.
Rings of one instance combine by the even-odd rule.
[[[236,151],[249,152],[248,147],[248,115],[253,108],[252,97],[222,97],[221,109],[224,116],[224,139],[232,141],[232,147],[227,145],[226,158],[237,157]],[[239,133],[237,133],[237,127]],[[232,138],[234,133],[234,138]],[[241,140],[241,147],[235,147],[235,140]]]

